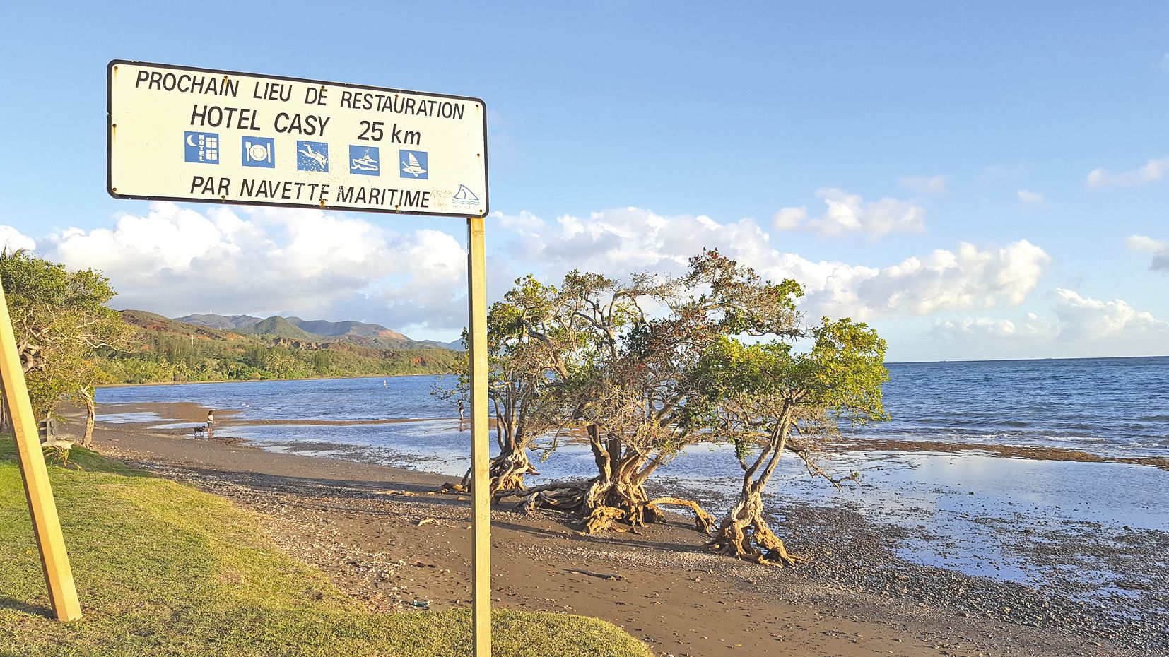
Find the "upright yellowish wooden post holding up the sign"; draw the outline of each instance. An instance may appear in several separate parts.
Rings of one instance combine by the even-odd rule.
[[[466,220],[471,366],[471,606],[475,657],[491,657],[491,440],[487,436],[487,285],[483,217]]]

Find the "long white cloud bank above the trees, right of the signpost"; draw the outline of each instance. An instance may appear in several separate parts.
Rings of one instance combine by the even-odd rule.
[[[521,217],[497,213],[492,219],[516,223]],[[1021,241],[983,250],[962,243],[887,267],[866,267],[780,253],[752,219],[719,223],[703,215],[663,216],[642,208],[565,215],[555,223],[532,219],[523,219],[525,231],[509,245],[510,254],[548,278],[576,268],[677,272],[704,247],[717,248],[773,281],[803,283],[801,307],[811,317],[873,319],[1010,306],[1026,297],[1050,262],[1043,249]]]

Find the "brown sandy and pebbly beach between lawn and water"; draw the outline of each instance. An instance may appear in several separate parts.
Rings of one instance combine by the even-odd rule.
[[[198,404],[117,410],[206,419]],[[230,416],[217,420],[217,435],[229,436]],[[189,435],[99,423],[95,442],[257,513],[278,547],[371,609],[468,604],[470,503],[435,492],[450,477]],[[894,549],[905,538],[897,527],[844,510],[793,504],[782,514],[783,532],[811,565],[779,569],[706,554],[680,514],[636,534],[587,537],[566,516],[502,505],[492,514],[496,604],[609,620],[658,655],[1169,653],[1155,610],[1107,615],[1035,587],[912,563]],[[1073,538],[1044,549],[1059,561]],[[1144,540],[1135,552],[1163,559],[1165,537]]]

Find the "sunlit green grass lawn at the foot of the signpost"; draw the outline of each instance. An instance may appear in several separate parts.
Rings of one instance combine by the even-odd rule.
[[[371,614],[226,500],[75,448],[49,466],[84,618],[50,620],[11,437],[0,437],[0,655],[471,655],[469,610]],[[617,627],[498,610],[494,655],[649,657]]]

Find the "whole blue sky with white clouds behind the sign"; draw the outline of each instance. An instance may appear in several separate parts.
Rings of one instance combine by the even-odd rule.
[[[1169,354],[1167,2],[22,2],[0,242],[116,307],[466,323],[465,222],[105,191],[112,58],[489,109],[489,296],[718,248],[888,358]]]

